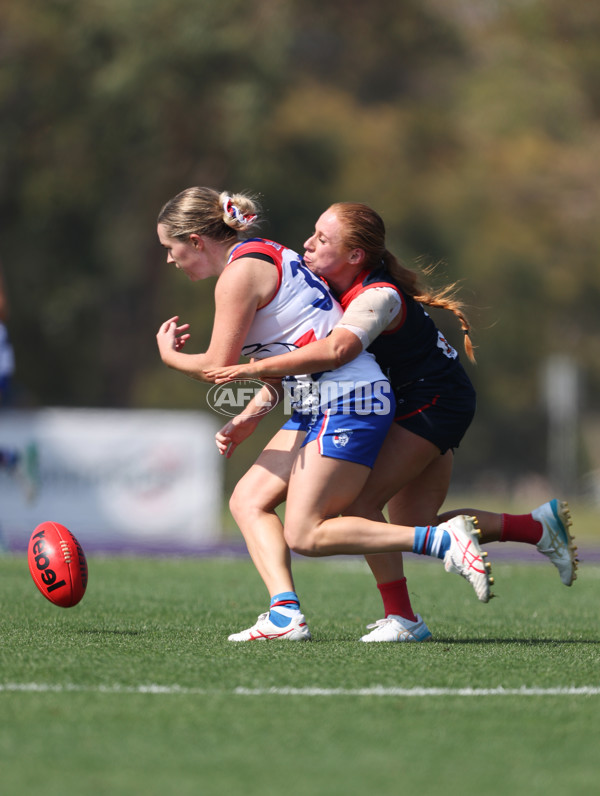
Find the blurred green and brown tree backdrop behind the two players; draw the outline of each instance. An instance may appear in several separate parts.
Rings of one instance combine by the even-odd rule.
[[[357,199],[406,261],[443,260],[472,307],[486,451],[515,475],[544,467],[547,355],[580,365],[591,408],[597,4],[24,0],[0,7],[0,31],[21,402],[197,405],[154,333],[179,313],[202,350],[212,286],[166,268],[154,225],[208,184],[261,193],[264,234],[298,249],[331,201]],[[506,432],[519,423],[527,456]]]

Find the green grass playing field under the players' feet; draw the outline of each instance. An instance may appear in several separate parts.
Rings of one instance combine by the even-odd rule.
[[[409,558],[430,644],[357,642],[381,609],[347,559],[295,564],[312,642],[235,645],[247,559],[90,558],[60,609],[0,556],[0,792],[595,794],[600,567],[496,564],[482,605]]]

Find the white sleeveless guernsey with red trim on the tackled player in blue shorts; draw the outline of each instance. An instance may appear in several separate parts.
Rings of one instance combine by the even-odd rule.
[[[343,310],[329,288],[303,264],[299,254],[263,238],[240,243],[232,251],[229,263],[252,257],[273,263],[279,272],[277,292],[271,301],[256,312],[242,353],[265,359],[300,348],[326,337],[343,315]],[[315,411],[332,400],[349,395],[357,384],[385,382],[372,354],[363,352],[336,370],[324,373],[289,376],[284,387],[292,408]]]

